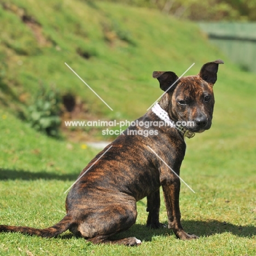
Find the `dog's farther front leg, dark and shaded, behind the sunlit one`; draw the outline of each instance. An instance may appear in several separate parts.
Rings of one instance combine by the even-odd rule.
[[[147,226],[152,229],[159,229],[166,227],[165,224],[159,222],[160,210],[160,191],[159,189],[147,196],[147,212],[148,220]]]

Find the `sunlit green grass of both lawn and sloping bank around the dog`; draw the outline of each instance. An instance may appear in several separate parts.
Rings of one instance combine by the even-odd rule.
[[[220,66],[214,86],[212,129],[187,141],[182,166],[182,178],[196,191],[193,194],[182,185],[183,225],[187,231],[200,235],[199,240],[179,241],[171,231],[148,230],[144,226],[146,201],[142,200],[138,202],[137,224],[120,234],[144,240],[138,248],[93,246],[68,233],[63,239],[0,234],[0,255],[254,255],[255,75],[241,72],[226,61],[196,26],[152,10],[109,3],[97,4],[95,8],[80,1],[49,1],[47,5],[36,1],[11,2],[20,7],[27,5],[27,11],[42,24],[45,37],[62,49],[57,51],[54,44],[38,46],[33,33],[16,15],[1,10],[1,24],[5,24],[6,32],[1,36],[1,49],[8,54],[8,72],[2,73],[1,88],[8,83],[15,93],[28,91],[33,95],[42,79],[63,91],[82,95],[98,115],[135,118],[161,94],[157,81],[151,78],[153,70],[168,69],[180,75],[196,62],[189,71],[195,74],[202,63],[220,57],[225,65]],[[106,43],[102,40],[102,22],[109,22],[109,27],[118,23],[115,30],[130,33],[126,36],[132,44],[119,39],[111,45]],[[78,46],[88,48],[95,57],[82,59],[75,54]],[[17,55],[20,48],[29,53]],[[21,66],[17,65],[19,60]],[[64,62],[81,74],[115,111],[110,112],[98,101]],[[5,86],[8,95],[9,88]],[[0,110],[0,120],[0,223],[43,228],[57,222],[65,214],[63,192],[95,150],[38,135],[7,108]],[[167,220],[163,203],[160,219]]]

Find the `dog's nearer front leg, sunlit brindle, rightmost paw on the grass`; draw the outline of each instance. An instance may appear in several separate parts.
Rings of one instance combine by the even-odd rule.
[[[178,172],[179,173],[179,172]],[[168,228],[172,229],[176,237],[182,240],[198,238],[184,231],[181,225],[181,212],[179,210],[179,190],[181,181],[174,174],[171,178],[166,178],[161,182],[164,192],[165,205],[168,216]]]

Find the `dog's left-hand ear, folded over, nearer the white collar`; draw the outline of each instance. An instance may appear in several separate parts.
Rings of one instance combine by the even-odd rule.
[[[166,92],[174,90],[178,84],[178,82],[175,82],[179,79],[177,75],[171,71],[154,71],[153,78],[159,80],[160,88]]]

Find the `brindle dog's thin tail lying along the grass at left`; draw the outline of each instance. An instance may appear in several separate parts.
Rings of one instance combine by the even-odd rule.
[[[69,229],[72,217],[66,215],[59,223],[47,229],[34,229],[28,226],[6,226],[0,225],[0,232],[20,232],[22,234],[37,235],[42,237],[55,237]]]

